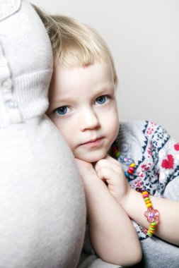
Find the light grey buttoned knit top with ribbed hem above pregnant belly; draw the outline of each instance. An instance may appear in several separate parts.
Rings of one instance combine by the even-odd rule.
[[[42,116],[48,106],[52,47],[37,13],[27,1],[24,5],[1,0],[0,128]]]

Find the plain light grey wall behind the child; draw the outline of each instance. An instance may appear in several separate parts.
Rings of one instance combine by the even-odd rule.
[[[179,141],[178,0],[32,0],[96,28],[115,59],[120,121],[148,119]]]

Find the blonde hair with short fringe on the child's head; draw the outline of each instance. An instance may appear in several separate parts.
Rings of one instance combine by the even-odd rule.
[[[33,5],[50,37],[54,59],[61,66],[90,66],[93,63],[110,61],[117,84],[115,64],[105,41],[93,28],[68,16],[49,16]]]

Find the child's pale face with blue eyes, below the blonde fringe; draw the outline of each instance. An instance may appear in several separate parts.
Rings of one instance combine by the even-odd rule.
[[[70,69],[56,64],[47,115],[74,157],[86,162],[105,157],[119,130],[110,64],[101,62]]]

